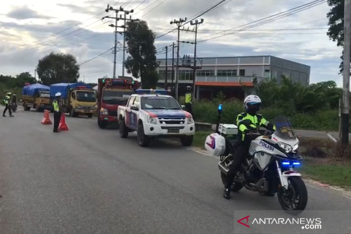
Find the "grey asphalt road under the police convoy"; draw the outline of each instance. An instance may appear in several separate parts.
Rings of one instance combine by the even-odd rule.
[[[135,134],[121,139],[94,118],[67,117],[69,131],[54,134],[40,124],[42,115],[20,110],[0,119],[1,234],[261,233],[237,216],[281,210],[276,197],[245,189],[225,200],[216,158],[164,141],[140,148]],[[324,230],[351,232],[349,218],[337,212],[351,209],[350,194],[312,183],[307,189],[308,210],[347,220]]]

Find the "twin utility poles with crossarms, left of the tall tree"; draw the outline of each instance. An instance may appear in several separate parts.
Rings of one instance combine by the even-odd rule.
[[[132,16],[130,16],[129,19],[126,18],[126,15],[129,14],[129,13],[133,13],[134,10],[130,10],[130,11],[127,11],[125,10],[123,7],[119,7],[119,8],[113,8],[112,6],[110,6],[109,4],[107,4],[107,8],[105,9],[106,12],[108,11],[114,11],[116,13],[116,17],[110,17],[110,16],[104,16],[102,17],[102,20],[106,19],[106,18],[110,18],[110,19],[115,19],[115,24],[110,24],[108,26],[110,27],[113,27],[115,28],[115,31],[114,31],[114,50],[113,50],[113,53],[114,53],[114,60],[113,60],[113,78],[116,78],[116,56],[117,56],[117,29],[118,28],[123,28],[123,61],[122,61],[122,76],[124,76],[124,60],[125,60],[125,48],[126,48],[126,42],[125,42],[125,39],[126,39],[126,20],[130,20],[130,21],[138,21],[139,19],[132,19]],[[118,18],[118,12],[124,12],[124,18],[122,18],[122,15],[120,15],[120,18]],[[124,25],[122,26],[118,26],[117,25],[117,21],[118,20],[124,20]]]

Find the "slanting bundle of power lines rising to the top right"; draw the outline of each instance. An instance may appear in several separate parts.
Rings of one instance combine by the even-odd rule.
[[[313,1],[313,2],[315,3],[316,1]],[[306,4],[304,4],[304,5],[303,5],[303,6],[304,6],[303,8],[300,7],[300,9],[294,10],[294,11],[291,12],[291,13],[284,14],[284,15],[280,15],[280,16],[278,16],[278,17],[276,17],[276,18],[269,19],[269,20],[260,22],[260,23],[258,23],[258,24],[251,25],[251,26],[247,26],[247,27],[245,27],[245,28],[238,29],[238,30],[236,30],[236,31],[234,31],[234,32],[231,32],[231,33],[228,33],[228,34],[215,36],[215,37],[209,38],[209,39],[204,39],[204,40],[201,40],[201,41],[199,41],[199,42],[204,42],[204,41],[208,41],[208,40],[217,39],[217,38],[220,38],[220,37],[223,37],[223,36],[226,36],[226,35],[231,35],[231,34],[234,34],[234,33],[241,32],[241,31],[246,31],[247,29],[250,29],[250,28],[253,28],[253,27],[258,27],[258,26],[261,26],[261,25],[264,25],[264,24],[268,24],[268,23],[270,23],[270,22],[273,22],[273,21],[276,21],[276,20],[285,18],[285,17],[287,17],[287,16],[296,14],[296,13],[298,13],[298,12],[305,11],[305,10],[310,9],[310,8],[312,8],[312,7],[318,6],[318,5],[320,5],[320,4],[323,4],[324,2],[326,2],[326,1],[325,1],[325,0],[322,0],[322,1],[319,0],[319,2],[318,2],[317,4],[310,5],[310,6],[304,6],[304,5],[306,5]],[[296,8],[299,8],[299,7],[296,7]],[[296,8],[293,8],[293,9],[296,9]],[[291,10],[290,10],[290,11],[291,11]],[[288,11],[284,11],[284,12],[289,12],[289,10],[288,10]],[[282,14],[282,13],[284,13],[284,12],[278,13],[278,14],[276,14],[276,15]],[[263,18],[263,19],[268,19],[268,18],[271,18],[271,17],[272,17],[272,16],[269,16],[269,17],[266,17],[266,18]],[[262,21],[263,19],[261,19],[261,20],[256,20],[256,21],[253,21],[253,22]],[[252,24],[253,22],[248,23],[248,24],[245,24],[245,25],[250,25],[250,24]],[[234,28],[238,28],[238,27],[242,27],[242,26],[244,26],[244,25],[237,26],[237,27],[234,27]],[[232,30],[232,29],[230,29],[230,30]],[[225,30],[225,31],[223,31],[223,32],[230,31],[230,30]],[[219,33],[215,33],[214,35],[216,35],[216,34],[219,34]],[[211,35],[210,35],[210,36],[211,36]],[[205,36],[205,38],[206,38],[206,37],[208,37],[208,36]]]

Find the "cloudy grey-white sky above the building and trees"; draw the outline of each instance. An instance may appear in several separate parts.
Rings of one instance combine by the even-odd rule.
[[[101,20],[102,16],[111,13],[104,12],[107,4],[117,2],[116,7],[136,8],[132,17],[147,21],[156,35],[162,35],[173,29],[171,20],[190,19],[218,1],[0,1],[0,74],[15,75],[24,71],[34,74],[38,60],[51,51],[73,54],[78,63],[82,63],[110,49],[114,41],[113,28],[108,26],[111,23],[108,19]],[[342,76],[338,74],[338,66],[342,48],[338,48],[326,35],[326,14],[329,11],[326,2],[245,31],[223,33],[225,29],[242,29],[244,26],[238,26],[310,1],[226,0],[201,17],[204,23],[199,27],[198,39],[211,40],[198,44],[198,56],[274,55],[311,66],[311,83],[335,80],[341,86]],[[191,25],[187,26],[192,29]],[[162,36],[155,41],[155,47],[172,44],[176,35],[174,31]],[[219,37],[212,39],[215,36]],[[193,33],[181,32],[181,40],[193,39]],[[122,42],[121,35],[118,40]],[[161,49],[158,51],[158,57],[163,58],[164,53]],[[192,45],[180,46],[181,56],[191,53]],[[117,74],[121,74],[121,61],[122,52],[119,51]],[[80,80],[96,82],[103,75],[112,77],[112,73],[113,54],[109,51],[82,65]]]

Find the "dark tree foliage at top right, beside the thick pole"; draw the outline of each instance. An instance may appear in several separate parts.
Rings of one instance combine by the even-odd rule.
[[[327,13],[329,19],[329,29],[327,35],[330,39],[337,42],[337,46],[344,46],[344,0],[328,0],[328,5],[331,7]],[[340,57],[340,73],[343,72],[344,63],[343,56]]]

